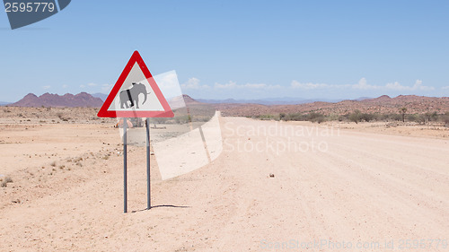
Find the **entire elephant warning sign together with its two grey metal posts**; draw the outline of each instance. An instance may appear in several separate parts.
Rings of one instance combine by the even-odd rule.
[[[127,131],[129,117],[145,118],[147,209],[151,208],[150,117],[173,117],[140,54],[135,51],[98,112],[98,117],[123,117],[123,212],[128,212]]]

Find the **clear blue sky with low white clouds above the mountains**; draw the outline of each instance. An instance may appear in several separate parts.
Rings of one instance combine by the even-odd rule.
[[[72,1],[11,30],[0,100],[109,92],[134,50],[202,99],[449,96],[448,1]]]

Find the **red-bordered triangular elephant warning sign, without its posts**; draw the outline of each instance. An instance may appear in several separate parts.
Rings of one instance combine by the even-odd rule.
[[[98,117],[173,117],[172,109],[137,51],[98,111]]]

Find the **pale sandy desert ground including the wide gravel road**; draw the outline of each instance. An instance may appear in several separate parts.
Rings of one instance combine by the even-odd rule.
[[[151,156],[150,210],[129,146],[123,213],[116,121],[34,110],[0,121],[0,251],[449,249],[445,128],[220,117],[215,161],[162,180]]]

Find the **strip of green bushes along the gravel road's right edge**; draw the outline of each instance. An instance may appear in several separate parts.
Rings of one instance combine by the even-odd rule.
[[[325,115],[318,112],[310,113],[279,113],[272,115],[260,115],[253,117],[260,120],[281,120],[281,121],[310,121],[313,123],[322,123],[326,121],[339,122],[414,122],[420,125],[429,123],[441,123],[449,126],[449,111],[445,113],[427,112],[423,114],[407,114],[406,108],[401,108],[398,113],[380,114],[380,113],[363,113],[360,110],[354,110],[345,115]]]

